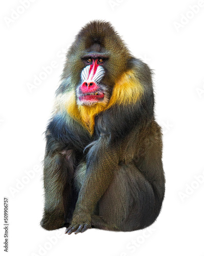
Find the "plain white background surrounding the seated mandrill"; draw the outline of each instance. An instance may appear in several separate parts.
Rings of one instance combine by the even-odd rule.
[[[24,9],[18,0],[2,1],[0,7],[1,253],[6,253],[3,201],[8,197],[10,255],[203,256],[204,3],[198,8],[198,0],[32,0],[30,6],[23,1]],[[166,195],[149,229],[92,229],[68,236],[64,229],[46,231],[39,225],[43,132],[66,49],[92,19],[110,21],[131,52],[155,72]],[[55,68],[29,90],[53,61]]]

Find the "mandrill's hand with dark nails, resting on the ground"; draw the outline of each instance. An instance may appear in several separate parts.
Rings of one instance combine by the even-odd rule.
[[[83,233],[88,228],[91,228],[91,217],[87,218],[87,215],[84,214],[74,214],[74,217],[71,221],[71,225],[66,228],[65,234],[71,234],[71,233]]]

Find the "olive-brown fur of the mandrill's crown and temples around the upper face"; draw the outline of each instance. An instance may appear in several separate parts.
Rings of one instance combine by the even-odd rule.
[[[105,59],[106,78],[112,84],[128,70],[128,62],[133,56],[110,23],[95,20],[75,37],[67,52],[62,78],[70,75],[71,83],[77,84],[89,57]]]

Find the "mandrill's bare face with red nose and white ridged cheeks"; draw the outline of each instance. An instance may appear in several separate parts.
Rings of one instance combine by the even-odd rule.
[[[86,67],[81,73],[81,82],[77,87],[78,105],[94,105],[96,103],[107,103],[108,94],[101,80],[105,75],[103,67],[107,60],[101,56],[88,56],[83,58]]]

